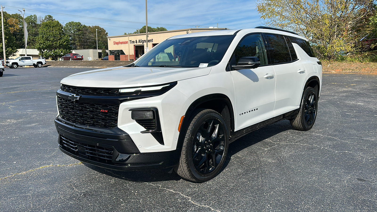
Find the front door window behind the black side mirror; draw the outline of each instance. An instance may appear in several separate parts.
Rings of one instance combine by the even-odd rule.
[[[237,46],[234,56],[236,58],[235,63],[241,57],[257,57],[261,61],[261,65],[267,65],[266,49],[262,36],[260,34],[252,34],[245,37]]]

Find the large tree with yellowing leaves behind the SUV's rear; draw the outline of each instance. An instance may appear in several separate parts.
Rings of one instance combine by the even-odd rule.
[[[257,9],[268,25],[303,35],[327,59],[354,51],[375,12],[374,0],[259,0]]]

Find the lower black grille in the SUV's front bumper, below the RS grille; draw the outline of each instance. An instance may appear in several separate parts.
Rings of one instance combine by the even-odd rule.
[[[81,158],[105,164],[112,162],[113,149],[80,143],[60,135],[59,144],[62,149]]]

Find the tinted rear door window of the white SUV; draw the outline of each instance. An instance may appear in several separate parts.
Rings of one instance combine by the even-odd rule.
[[[272,64],[287,63],[292,61],[287,42],[283,35],[266,34],[267,42],[270,45],[270,56]]]

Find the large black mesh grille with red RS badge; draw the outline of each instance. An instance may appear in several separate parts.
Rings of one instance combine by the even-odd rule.
[[[75,102],[58,96],[58,109],[60,118],[70,123],[107,129],[118,126],[119,104]]]

